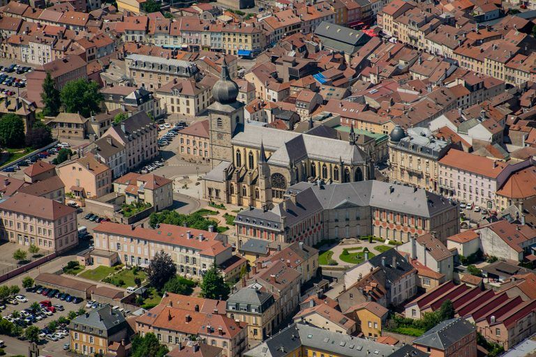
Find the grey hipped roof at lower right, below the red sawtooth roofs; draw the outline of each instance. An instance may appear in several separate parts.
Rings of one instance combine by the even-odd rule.
[[[463,319],[463,317],[458,317],[457,319],[442,321],[437,326],[426,331],[424,335],[417,337],[413,343],[445,350],[472,333],[472,331],[475,331],[475,326]]]

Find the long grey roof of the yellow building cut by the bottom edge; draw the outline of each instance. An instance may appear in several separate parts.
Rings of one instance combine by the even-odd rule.
[[[283,357],[301,346],[326,351],[327,354],[352,357],[387,357],[398,349],[398,347],[373,340],[335,333],[305,324],[292,324],[247,351],[244,356]]]

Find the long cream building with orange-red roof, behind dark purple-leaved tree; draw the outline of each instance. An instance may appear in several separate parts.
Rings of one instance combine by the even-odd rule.
[[[200,279],[212,264],[231,257],[225,236],[213,231],[161,224],[158,229],[104,222],[94,229],[95,248],[118,252],[121,263],[149,266],[151,257],[163,250],[177,265],[177,274]]]

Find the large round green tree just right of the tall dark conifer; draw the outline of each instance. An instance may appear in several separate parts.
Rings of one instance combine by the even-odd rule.
[[[80,113],[86,118],[101,112],[103,94],[98,90],[98,84],[84,78],[67,82],[60,93],[61,104],[68,113]]]

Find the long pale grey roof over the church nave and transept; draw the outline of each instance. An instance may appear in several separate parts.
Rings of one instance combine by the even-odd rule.
[[[296,163],[304,158],[331,162],[343,160],[347,165],[367,161],[366,154],[356,145],[299,132],[244,125],[232,138],[233,144],[254,148],[260,148],[261,142],[264,143],[265,149],[273,152],[268,159],[268,163],[272,165],[286,167],[290,160]]]

